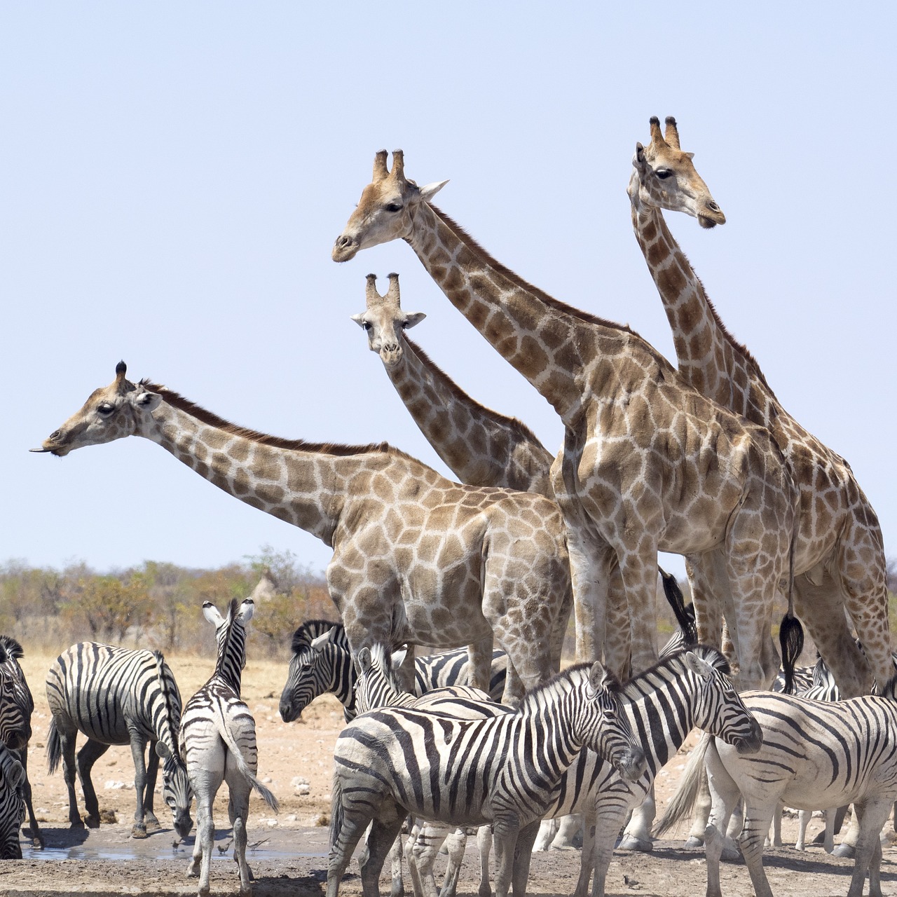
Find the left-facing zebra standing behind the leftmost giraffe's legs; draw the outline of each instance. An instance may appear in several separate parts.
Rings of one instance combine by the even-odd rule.
[[[414,693],[422,695],[434,688],[467,682],[468,669],[466,649],[415,658]],[[495,701],[501,700],[507,669],[508,656],[505,652],[493,651],[489,694]],[[355,709],[357,678],[352,649],[343,624],[327,620],[307,620],[292,636],[290,669],[280,701],[283,722],[298,719],[302,710],[325,692],[335,694],[343,705],[345,721],[351,722],[358,712]]]

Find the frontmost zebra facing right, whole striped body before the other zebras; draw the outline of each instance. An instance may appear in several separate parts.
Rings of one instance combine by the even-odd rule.
[[[380,869],[408,813],[452,826],[492,823],[495,893],[506,897],[515,847],[529,852],[558,780],[582,747],[604,754],[631,779],[644,771],[620,688],[600,663],[580,664],[499,717],[387,708],[355,718],[336,740],[327,897],[339,892],[370,822],[361,881],[366,897],[379,894]],[[514,877],[522,893],[526,881]]]

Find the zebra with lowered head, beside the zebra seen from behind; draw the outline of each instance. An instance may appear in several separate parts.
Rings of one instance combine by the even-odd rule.
[[[128,650],[83,641],[60,654],[47,674],[50,730],[47,757],[50,774],[63,762],[68,787],[68,819],[72,828],[100,825],[100,806],[91,782],[93,764],[109,745],[131,745],[137,794],[132,838],[158,831],[152,812],[159,758],[162,758],[162,797],[174,814],[174,828],[186,838],[193,826],[193,795],[187,769],[178,753],[180,692],[159,651]],[[87,816],[82,821],[74,794],[74,743],[78,732],[87,743],[78,752],[78,778]],[[149,743],[149,762],[144,749]],[[153,750],[153,748],[155,750]]]

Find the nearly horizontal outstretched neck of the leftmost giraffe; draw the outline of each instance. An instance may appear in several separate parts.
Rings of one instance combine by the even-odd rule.
[[[328,454],[327,447],[291,444],[242,431],[227,422],[206,422],[172,404],[184,401],[177,394],[154,389],[163,401],[153,412],[152,422],[136,435],[159,443],[234,498],[332,546],[343,511],[346,478],[360,465],[363,455]],[[262,441],[266,439],[270,442]]]

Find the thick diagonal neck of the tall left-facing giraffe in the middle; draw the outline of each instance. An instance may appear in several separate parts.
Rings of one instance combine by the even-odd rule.
[[[579,414],[584,370],[601,354],[592,319],[496,262],[435,206],[421,203],[407,241],[448,300],[565,422]],[[625,330],[625,328],[616,328]]]

